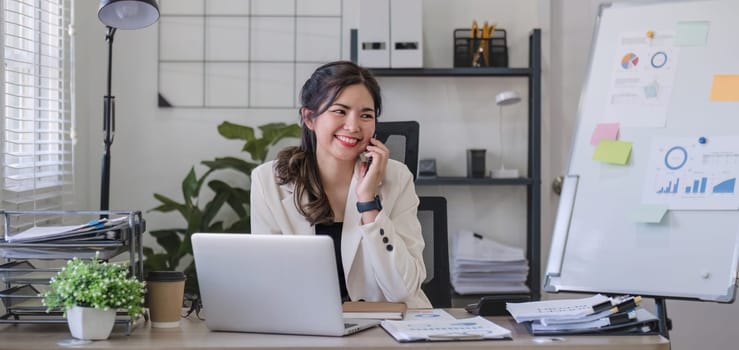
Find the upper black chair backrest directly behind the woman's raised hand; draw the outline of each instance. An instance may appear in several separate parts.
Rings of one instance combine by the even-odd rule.
[[[417,121],[378,122],[375,127],[377,139],[390,149],[390,158],[405,163],[416,179],[418,172]]]

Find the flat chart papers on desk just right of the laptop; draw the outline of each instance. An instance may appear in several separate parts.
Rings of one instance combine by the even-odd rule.
[[[511,338],[510,330],[480,316],[454,320],[382,321],[380,325],[400,343]]]

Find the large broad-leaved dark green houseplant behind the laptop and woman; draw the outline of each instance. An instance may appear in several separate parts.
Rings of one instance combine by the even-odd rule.
[[[155,193],[160,204],[151,211],[162,213],[177,212],[184,219],[186,226],[152,230],[150,234],[156,239],[163,252],[155,252],[151,247],[144,247],[144,269],[146,271],[174,271],[182,268],[180,264],[192,256],[190,237],[195,232],[249,232],[250,191],[248,183],[231,185],[220,179],[211,179],[217,171],[234,170],[242,174],[246,180],[252,170],[264,163],[271,146],[285,138],[300,137],[298,124],[269,123],[258,127],[261,137],[257,137],[254,128],[223,122],[218,126],[221,136],[230,140],[242,140],[242,152],[249,153],[251,161],[236,157],[221,157],[211,161],[202,161],[208,170],[198,176],[195,168],[182,181],[182,200],[177,201],[162,194]],[[212,199],[204,199],[204,184],[213,192]],[[221,212],[225,209],[225,212]],[[220,213],[220,215],[219,215]],[[185,293],[193,298],[198,294],[195,265],[190,260],[184,266],[187,282]]]

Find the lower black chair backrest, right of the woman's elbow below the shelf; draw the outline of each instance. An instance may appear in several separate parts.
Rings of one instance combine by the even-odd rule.
[[[449,241],[446,198],[418,197],[418,219],[421,221],[423,260],[426,264],[426,281],[421,288],[435,308],[452,306],[452,285],[449,278]]]

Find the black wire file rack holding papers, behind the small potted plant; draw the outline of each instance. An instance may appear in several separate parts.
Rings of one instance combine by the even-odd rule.
[[[144,280],[142,236],[146,222],[140,211],[7,211],[0,210],[0,301],[5,312],[2,323],[66,323],[63,310],[46,312],[41,294],[51,277],[74,257],[101,260],[128,258],[130,272]],[[105,218],[115,225],[70,230]],[[29,228],[43,228],[44,233],[29,237]],[[55,230],[60,228],[60,230]],[[64,229],[61,229],[64,228]],[[26,234],[24,234],[26,233]],[[144,314],[144,318],[148,318]],[[119,310],[116,325],[126,334],[134,322],[125,310]]]

